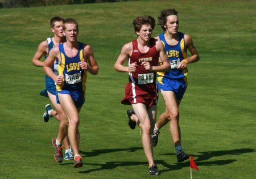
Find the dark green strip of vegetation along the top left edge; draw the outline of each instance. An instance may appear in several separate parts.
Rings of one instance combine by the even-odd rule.
[[[0,1],[0,8],[35,7],[35,6],[52,6],[52,5],[76,5],[76,4],[84,4],[84,3],[121,2],[121,1],[138,1],[138,0],[3,0],[3,1]]]

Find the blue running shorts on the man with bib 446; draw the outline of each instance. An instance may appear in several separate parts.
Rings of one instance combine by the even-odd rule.
[[[60,103],[58,93],[70,95],[72,97],[72,99],[74,100],[77,108],[80,108],[84,104],[85,92],[82,90],[65,90],[65,89],[63,89],[62,91],[56,91],[56,101],[57,101],[57,103]]]

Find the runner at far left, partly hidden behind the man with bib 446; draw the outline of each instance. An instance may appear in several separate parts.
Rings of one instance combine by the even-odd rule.
[[[36,53],[34,57],[32,58],[32,64],[38,67],[42,67],[44,65],[44,61],[40,61],[40,59],[44,56],[46,59],[48,57],[48,54],[50,50],[58,46],[59,44],[66,41],[66,37],[63,35],[63,22],[64,19],[55,16],[50,20],[51,25],[51,31],[54,33],[53,37],[48,37],[46,40],[42,41],[38,45],[38,49],[36,50]],[[53,63],[51,66],[52,71],[57,75],[58,73],[58,60]],[[46,112],[43,114],[43,120],[44,122],[48,122],[50,117],[55,117],[57,121],[61,121],[63,118],[65,118],[65,113],[63,109],[61,108],[60,104],[56,103],[56,84],[55,82],[49,78],[49,76],[46,75],[46,89],[42,90],[40,92],[40,95],[49,97],[49,100],[51,101],[52,105],[54,106],[55,110],[52,109],[50,104],[46,105]],[[66,117],[67,118],[67,117]],[[63,141],[65,146],[65,160],[73,160],[72,150],[69,147],[69,141],[68,137],[66,137]]]

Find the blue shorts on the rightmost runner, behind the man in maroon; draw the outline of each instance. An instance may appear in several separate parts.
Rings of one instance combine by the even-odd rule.
[[[162,83],[158,82],[158,89],[163,91],[173,91],[176,95],[177,100],[181,100],[187,89],[187,83],[184,78],[170,79],[162,78]]]

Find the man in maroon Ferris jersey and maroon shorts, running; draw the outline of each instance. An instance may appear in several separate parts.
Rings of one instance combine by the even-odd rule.
[[[123,45],[115,62],[114,69],[129,73],[129,83],[125,87],[122,104],[132,105],[137,121],[129,121],[131,129],[136,124],[142,129],[142,144],[149,164],[149,174],[159,175],[154,163],[150,135],[156,120],[156,71],[169,71],[170,63],[160,40],[151,38],[155,19],[151,16],[138,16],[133,21],[138,38]],[[158,66],[159,57],[163,65]],[[128,59],[129,66],[123,66]]]

